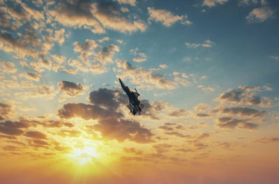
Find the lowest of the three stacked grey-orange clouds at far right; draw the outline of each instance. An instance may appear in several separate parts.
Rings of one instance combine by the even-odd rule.
[[[215,123],[216,127],[220,129],[247,129],[247,130],[255,130],[259,125],[255,123],[248,122],[247,119],[236,119],[230,117],[218,118]]]

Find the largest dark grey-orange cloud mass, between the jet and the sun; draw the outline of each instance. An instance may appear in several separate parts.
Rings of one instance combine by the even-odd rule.
[[[123,114],[116,111],[121,102],[117,100],[114,90],[99,89],[91,92],[91,104],[65,104],[57,115],[60,118],[80,117],[84,120],[98,120],[91,128],[100,132],[103,139],[124,141],[129,139],[137,143],[152,142],[153,134],[135,120],[123,120]],[[117,94],[118,95],[118,94]],[[107,97],[107,98],[106,98]]]

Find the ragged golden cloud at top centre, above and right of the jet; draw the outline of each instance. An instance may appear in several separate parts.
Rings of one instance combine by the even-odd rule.
[[[181,24],[192,24],[187,19],[187,15],[174,15],[172,12],[167,10],[156,10],[152,7],[148,7],[149,11],[149,21],[155,20],[156,22],[162,22],[166,27],[172,26],[175,22],[181,22]]]

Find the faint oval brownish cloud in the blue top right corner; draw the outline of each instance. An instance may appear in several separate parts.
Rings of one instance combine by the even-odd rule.
[[[274,10],[269,7],[254,8],[246,17],[248,22],[264,22],[273,17]]]

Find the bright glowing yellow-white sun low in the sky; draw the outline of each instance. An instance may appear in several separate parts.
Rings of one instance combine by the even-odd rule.
[[[74,148],[68,157],[73,158],[77,164],[84,165],[92,162],[93,158],[99,157],[99,154],[94,148],[84,146],[84,148]]]

